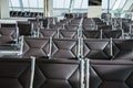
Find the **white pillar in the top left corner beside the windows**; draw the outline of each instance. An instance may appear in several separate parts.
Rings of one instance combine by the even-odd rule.
[[[0,18],[9,18],[9,0],[0,0]]]

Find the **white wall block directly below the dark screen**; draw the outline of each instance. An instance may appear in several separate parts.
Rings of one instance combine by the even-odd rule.
[[[101,18],[102,7],[101,6],[89,6],[88,18]]]

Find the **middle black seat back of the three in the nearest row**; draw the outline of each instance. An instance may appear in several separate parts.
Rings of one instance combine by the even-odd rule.
[[[37,59],[33,88],[82,88],[79,61]]]

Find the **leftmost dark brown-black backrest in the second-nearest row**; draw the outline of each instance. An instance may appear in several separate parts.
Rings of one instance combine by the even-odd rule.
[[[23,37],[22,57],[48,57],[50,40],[41,37]]]

